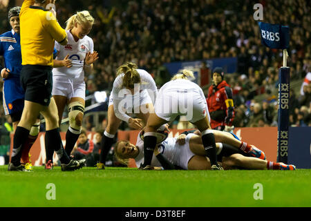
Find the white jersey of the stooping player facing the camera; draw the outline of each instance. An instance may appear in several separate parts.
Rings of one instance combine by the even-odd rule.
[[[129,92],[129,90],[126,90],[126,88],[122,87],[124,73],[118,75],[115,78],[115,81],[113,81],[113,90],[112,90],[113,109],[115,111],[115,116],[124,122],[129,122],[129,119],[130,119],[129,115],[126,115],[125,111],[122,111],[122,107],[124,106],[124,104],[122,104],[121,102],[122,102],[122,99],[124,100],[124,97],[129,96],[139,101],[140,92],[142,92],[142,90],[147,90],[149,96],[151,97],[152,103],[154,104],[154,101],[156,100],[156,96],[158,94],[156,82],[153,80],[151,75],[147,73],[146,70],[142,70],[142,69],[136,69],[136,70],[140,74],[140,84],[139,84],[139,88],[135,88],[134,95],[132,95]],[[119,106],[120,104],[121,106]]]

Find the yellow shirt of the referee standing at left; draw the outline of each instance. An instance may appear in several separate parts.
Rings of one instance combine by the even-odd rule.
[[[32,6],[33,3],[35,0],[24,0],[19,14],[21,64],[53,66],[55,40],[64,41],[66,31],[50,11]]]

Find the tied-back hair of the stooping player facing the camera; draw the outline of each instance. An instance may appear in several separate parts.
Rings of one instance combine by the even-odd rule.
[[[140,74],[136,70],[138,66],[131,62],[126,62],[117,68],[117,75],[124,73],[122,86],[125,88],[134,88],[134,84],[140,84]]]

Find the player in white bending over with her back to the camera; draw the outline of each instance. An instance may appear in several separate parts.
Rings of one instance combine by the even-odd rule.
[[[140,169],[150,169],[158,128],[172,122],[178,116],[185,115],[187,121],[196,125],[202,133],[202,144],[211,161],[211,169],[223,170],[217,162],[215,138],[209,124],[206,98],[202,89],[191,79],[194,79],[194,73],[185,69],[160,88],[154,106],[155,112],[150,114],[145,128],[144,163]]]

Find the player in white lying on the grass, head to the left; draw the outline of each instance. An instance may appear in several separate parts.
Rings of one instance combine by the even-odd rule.
[[[226,133],[219,131],[220,133]],[[162,167],[162,169],[185,169],[185,170],[209,170],[211,164],[206,157],[198,131],[182,134],[177,138],[168,137],[160,144],[157,144],[151,166]],[[218,138],[216,142],[218,142]],[[144,141],[138,135],[136,146],[128,141],[119,141],[115,146],[117,157],[126,162],[126,159],[133,158],[139,167],[144,161]],[[222,162],[224,169],[238,167],[240,169],[274,169],[274,170],[295,170],[294,165],[275,163],[251,157],[249,153],[224,143],[216,143],[218,162]]]

